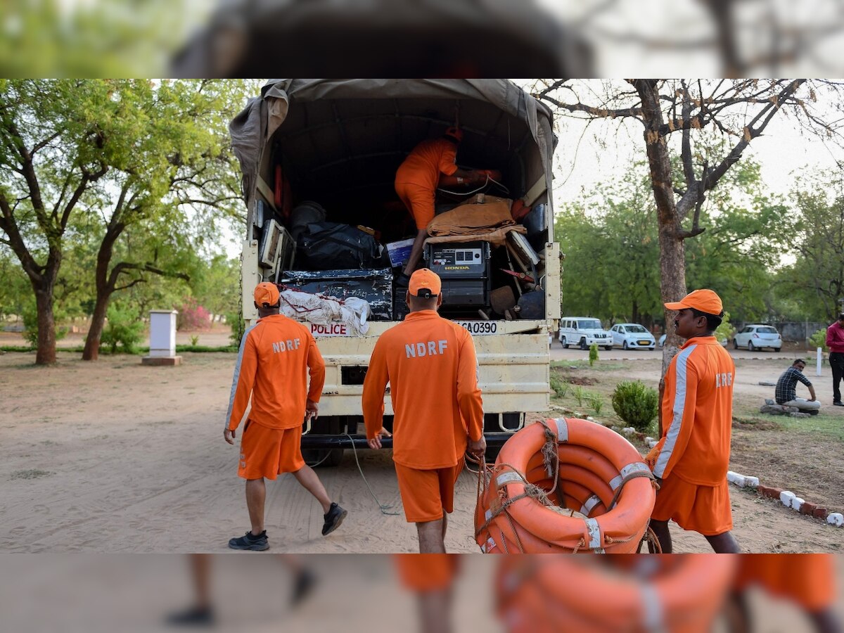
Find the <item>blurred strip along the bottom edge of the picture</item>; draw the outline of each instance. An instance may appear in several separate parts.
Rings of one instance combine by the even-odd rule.
[[[0,556],[2,628],[172,630],[199,580],[216,630],[811,631],[822,609],[841,630],[833,555],[310,555],[316,582],[295,606],[278,557],[208,556],[204,578],[181,555]]]

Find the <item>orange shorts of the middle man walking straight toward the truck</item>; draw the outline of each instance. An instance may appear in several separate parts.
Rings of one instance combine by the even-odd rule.
[[[454,484],[463,470],[463,459],[457,466],[419,470],[396,464],[398,492],[402,495],[404,517],[408,523],[436,521],[442,511],[454,511]]]

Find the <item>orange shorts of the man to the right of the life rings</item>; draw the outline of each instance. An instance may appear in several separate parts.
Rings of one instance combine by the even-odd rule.
[[[654,521],[674,522],[684,530],[694,530],[704,536],[717,536],[733,529],[730,511],[730,492],[727,479],[719,486],[690,484],[668,475],[657,492],[657,503],[651,518]]]

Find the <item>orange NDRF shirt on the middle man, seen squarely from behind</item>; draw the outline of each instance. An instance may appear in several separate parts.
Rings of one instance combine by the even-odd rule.
[[[392,459],[408,468],[450,468],[484,432],[472,335],[433,310],[411,312],[381,334],[363,392],[366,437],[375,437],[390,383]]]

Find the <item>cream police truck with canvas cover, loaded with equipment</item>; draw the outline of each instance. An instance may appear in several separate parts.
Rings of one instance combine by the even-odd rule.
[[[378,306],[365,333],[344,322],[309,322],[306,311],[296,317],[311,328],[326,363],[319,417],[303,422],[309,463],[337,465],[344,449],[366,447],[360,401],[365,372],[378,336],[400,322],[405,309],[405,289],[395,279],[401,260],[387,256],[400,257],[399,246],[416,231],[394,191],[395,173],[419,141],[457,122],[464,134],[457,164],[489,169],[500,180],[480,192],[442,187],[438,212],[495,200],[520,218],[503,244],[474,236],[428,243],[423,262],[440,266],[444,297],[457,297],[457,305],[444,300],[441,314],[473,334],[491,457],[522,428],[527,412],[549,409],[547,340],[560,318],[560,245],[551,197],[556,138],[549,109],[507,79],[272,79],[230,123],[246,202],[246,326],[257,320],[252,289],[262,281],[341,300],[357,294]],[[325,262],[309,257],[313,241],[303,232],[306,237],[309,230],[336,226],[371,235],[379,250],[389,248],[360,270],[325,269]],[[468,270],[473,267],[463,263],[470,259],[483,266]],[[389,393],[385,408],[390,428]]]

